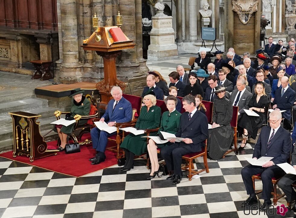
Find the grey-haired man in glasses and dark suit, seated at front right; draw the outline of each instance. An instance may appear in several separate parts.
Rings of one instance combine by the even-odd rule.
[[[285,172],[276,164],[285,163],[290,156],[291,135],[281,127],[282,115],[279,111],[273,111],[269,114],[270,126],[264,126],[259,135],[254,148],[253,159],[259,159],[262,156],[273,157],[272,160],[264,163],[262,166],[249,164],[242,169],[242,178],[246,187],[247,194],[250,197],[243,201],[242,207],[257,202],[255,190],[253,188],[252,176],[261,173],[263,189],[263,205],[261,211],[268,210],[271,205],[272,177],[282,176]]]

